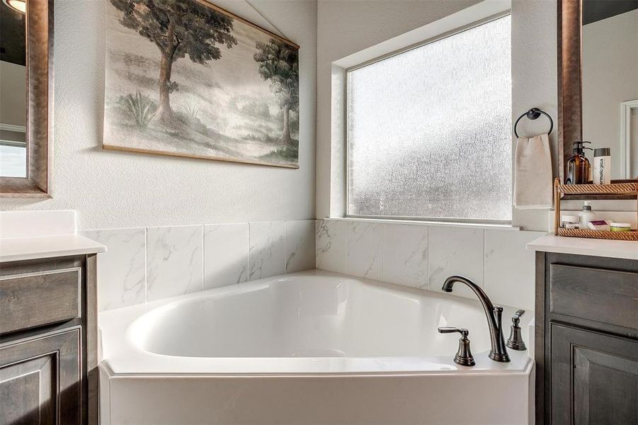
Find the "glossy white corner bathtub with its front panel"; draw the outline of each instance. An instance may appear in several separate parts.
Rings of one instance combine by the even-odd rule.
[[[531,423],[530,353],[489,360],[481,305],[455,295],[307,271],[101,312],[99,326],[102,424]],[[453,363],[458,334],[439,326],[469,329],[477,365]]]

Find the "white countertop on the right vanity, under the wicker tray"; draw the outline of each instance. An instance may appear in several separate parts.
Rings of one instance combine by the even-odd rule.
[[[559,254],[604,256],[614,259],[638,260],[638,242],[631,241],[563,237],[546,234],[527,244],[527,248],[533,249],[534,251],[557,252]]]

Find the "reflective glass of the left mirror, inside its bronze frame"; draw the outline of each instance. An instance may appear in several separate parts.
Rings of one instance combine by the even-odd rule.
[[[0,3],[0,176],[27,176],[26,4]]]

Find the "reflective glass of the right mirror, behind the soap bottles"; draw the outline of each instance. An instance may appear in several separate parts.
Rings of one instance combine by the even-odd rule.
[[[638,0],[582,1],[581,81],[582,140],[610,149],[611,179],[637,178]]]

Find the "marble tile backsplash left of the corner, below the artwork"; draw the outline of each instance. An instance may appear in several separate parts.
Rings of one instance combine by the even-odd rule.
[[[80,232],[98,254],[98,307],[118,307],[304,271],[315,266],[314,220]]]

